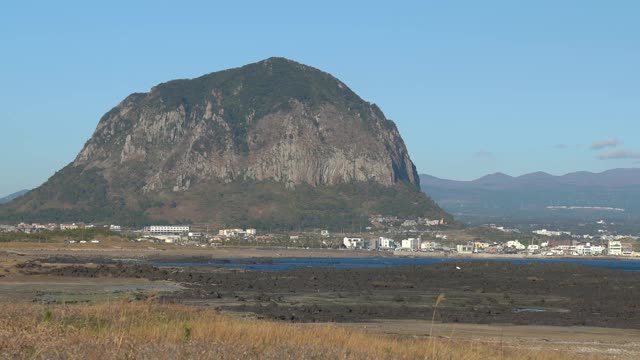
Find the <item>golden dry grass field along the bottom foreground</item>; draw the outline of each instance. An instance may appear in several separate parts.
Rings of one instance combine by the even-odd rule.
[[[437,359],[570,358],[499,345],[392,337],[337,325],[238,319],[206,308],[153,301],[0,307],[0,358],[432,359],[434,354]]]

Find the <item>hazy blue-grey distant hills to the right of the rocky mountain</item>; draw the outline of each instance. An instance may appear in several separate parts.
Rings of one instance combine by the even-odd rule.
[[[467,221],[549,217],[633,217],[640,215],[640,169],[553,176],[535,172],[518,177],[503,173],[473,181],[420,175],[422,190],[440,206]],[[552,210],[548,206],[611,207],[607,210]]]

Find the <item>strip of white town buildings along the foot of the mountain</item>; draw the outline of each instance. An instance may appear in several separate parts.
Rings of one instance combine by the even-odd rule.
[[[596,224],[606,229],[605,221]],[[332,233],[326,229],[263,233],[255,228],[214,229],[202,224],[150,225],[133,229],[115,224],[23,222],[0,225],[0,233],[29,234],[43,240],[47,240],[48,234],[67,234],[64,239],[67,244],[99,244],[99,240],[85,237],[85,232],[100,230],[134,242],[193,247],[282,246],[385,251],[398,256],[640,257],[638,236],[611,234],[605,229],[598,229],[595,235],[547,229],[524,234],[519,229],[488,224],[461,231],[448,229],[443,220],[406,220],[392,216],[374,216],[370,225],[353,233]]]

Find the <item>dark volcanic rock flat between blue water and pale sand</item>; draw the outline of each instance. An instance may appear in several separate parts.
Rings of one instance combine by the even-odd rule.
[[[430,320],[436,297],[444,293],[438,321],[640,328],[640,274],[577,265],[473,261],[240,272],[122,264],[47,269],[31,264],[23,270],[171,280],[186,290],[167,301],[196,300],[284,321]]]

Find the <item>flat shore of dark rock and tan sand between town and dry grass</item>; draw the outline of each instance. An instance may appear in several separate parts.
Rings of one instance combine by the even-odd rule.
[[[200,265],[378,254],[242,247],[9,248],[4,244],[0,253],[4,303],[74,306],[143,301],[152,294],[160,304],[269,322],[330,323],[373,334],[499,343],[596,358],[640,356],[637,272],[490,260],[262,272]],[[195,266],[153,266],[162,263]],[[435,306],[439,297],[444,300]]]

